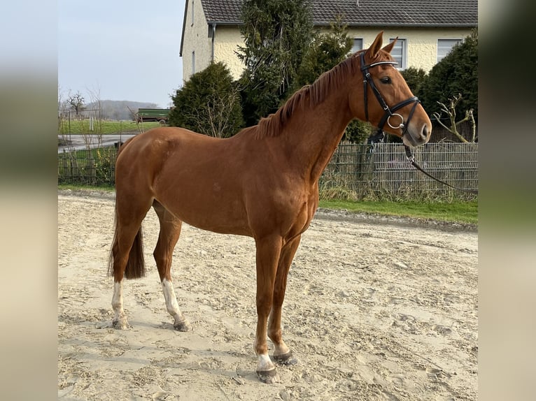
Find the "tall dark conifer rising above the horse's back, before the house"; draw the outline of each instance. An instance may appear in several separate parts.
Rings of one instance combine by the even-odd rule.
[[[245,70],[240,79],[246,125],[275,112],[285,99],[311,43],[307,0],[245,0],[241,10]]]

